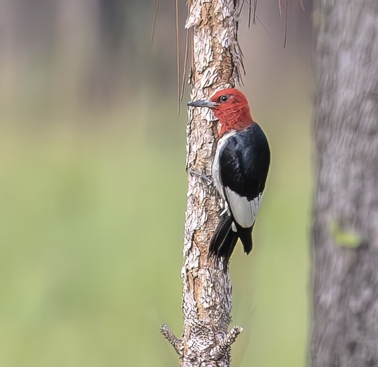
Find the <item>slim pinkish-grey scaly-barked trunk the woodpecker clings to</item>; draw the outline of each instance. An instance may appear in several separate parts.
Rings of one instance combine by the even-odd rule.
[[[192,100],[234,86],[241,65],[234,0],[197,0],[187,28],[193,29]],[[211,167],[216,148],[216,122],[206,108],[190,108],[187,125],[188,173],[184,238],[182,338],[164,325],[162,333],[175,347],[181,366],[229,366],[231,344],[241,332],[231,320],[232,289],[228,267],[208,259],[210,239],[224,203],[216,194]]]

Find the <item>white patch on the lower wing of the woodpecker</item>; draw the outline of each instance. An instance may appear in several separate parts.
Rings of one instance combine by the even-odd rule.
[[[230,188],[225,188],[227,199],[230,203],[230,210],[239,226],[243,228],[252,227],[256,221],[264,193],[261,193],[254,200],[248,201]]]

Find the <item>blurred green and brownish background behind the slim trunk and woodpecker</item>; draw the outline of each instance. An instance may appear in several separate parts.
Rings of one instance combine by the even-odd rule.
[[[186,90],[174,3],[0,4],[0,366],[174,366],[182,330]],[[231,262],[233,366],[303,366],[309,332],[310,13],[258,2],[242,90],[272,164],[255,250]],[[180,53],[185,4],[180,2]],[[182,62],[181,62],[182,64]]]

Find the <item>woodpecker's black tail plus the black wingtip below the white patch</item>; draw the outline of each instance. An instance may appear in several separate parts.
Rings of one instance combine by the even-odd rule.
[[[232,251],[234,251],[236,242],[240,238],[244,247],[244,252],[248,254],[252,249],[252,230],[254,226],[249,228],[240,227],[236,224],[237,232],[232,230],[234,218],[226,216],[220,221],[218,228],[210,242],[209,254],[217,257],[223,256],[230,259]]]

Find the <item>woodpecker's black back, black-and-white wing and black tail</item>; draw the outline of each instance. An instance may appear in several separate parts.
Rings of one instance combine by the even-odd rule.
[[[254,123],[227,140],[219,157],[219,178],[231,216],[224,218],[217,228],[210,253],[229,259],[238,237],[246,254],[252,249],[251,232],[260,208],[269,164],[269,144],[258,124]]]

